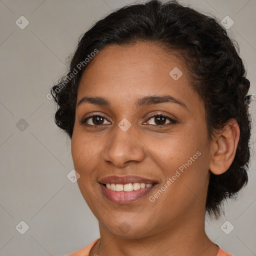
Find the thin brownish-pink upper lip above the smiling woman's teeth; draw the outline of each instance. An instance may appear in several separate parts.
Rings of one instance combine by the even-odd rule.
[[[106,176],[98,180],[99,183],[106,184],[127,184],[127,183],[146,183],[153,184],[157,183],[156,180],[136,176],[136,175],[125,175],[125,176]]]

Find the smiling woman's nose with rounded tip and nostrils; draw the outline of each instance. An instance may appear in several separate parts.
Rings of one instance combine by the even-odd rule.
[[[144,143],[139,139],[135,127],[123,131],[117,125],[113,129],[110,141],[103,149],[103,159],[115,166],[123,167],[129,161],[142,162],[145,158]]]

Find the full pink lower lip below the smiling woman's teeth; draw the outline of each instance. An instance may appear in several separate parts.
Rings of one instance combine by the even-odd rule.
[[[140,188],[138,190],[132,191],[113,191],[106,188],[103,184],[100,183],[101,190],[103,194],[111,201],[115,203],[130,203],[133,202],[142,196],[146,195],[150,190],[155,187],[156,183],[145,188]]]

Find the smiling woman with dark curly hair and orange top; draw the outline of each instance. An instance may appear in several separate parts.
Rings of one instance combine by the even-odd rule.
[[[100,231],[70,255],[231,255],[204,217],[247,182],[248,89],[212,17],[151,0],[96,22],[51,89]]]

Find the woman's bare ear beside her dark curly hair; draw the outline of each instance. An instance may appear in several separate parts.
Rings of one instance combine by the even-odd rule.
[[[235,119],[229,119],[225,126],[218,130],[211,141],[211,159],[209,170],[218,175],[224,173],[231,165],[237,144],[240,129]]]

